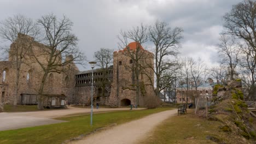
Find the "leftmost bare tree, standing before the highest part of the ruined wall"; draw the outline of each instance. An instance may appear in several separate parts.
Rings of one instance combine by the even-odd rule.
[[[14,89],[14,106],[17,104],[20,68],[22,64],[26,64],[26,53],[33,43],[33,39],[27,39],[26,35],[37,38],[38,29],[32,19],[28,19],[23,15],[14,15],[0,22],[0,37],[12,43],[11,47],[1,46],[1,50],[5,53],[4,59],[10,59],[13,62],[15,71],[15,89]]]

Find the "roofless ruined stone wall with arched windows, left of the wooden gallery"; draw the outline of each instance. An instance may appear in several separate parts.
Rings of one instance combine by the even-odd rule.
[[[21,35],[24,39],[24,35]],[[19,38],[18,37],[18,41]],[[30,39],[31,37],[28,37]],[[15,91],[15,80],[16,80],[16,59],[20,53],[13,51],[19,50],[16,43],[11,44],[9,52],[9,61],[0,62],[0,76],[3,79],[3,70],[7,69],[6,80],[0,87],[0,92],[3,95],[4,92],[4,103],[13,104],[14,91]],[[34,55],[37,56],[38,61],[43,64],[47,64],[48,56],[42,51],[42,46],[45,45],[33,42],[28,43],[28,47],[31,47]],[[28,48],[27,48],[28,49]],[[24,52],[24,50],[22,50]],[[22,94],[38,94],[40,83],[42,82],[43,69],[37,63],[36,59],[32,56],[31,51],[22,53],[22,63],[20,68],[19,87],[18,87],[18,104],[21,104]],[[68,57],[67,57],[68,58]],[[60,57],[61,59],[61,57]],[[67,96],[67,100],[71,100],[74,97],[74,86],[75,86],[75,74],[79,71],[75,64],[71,63],[65,67],[65,73],[50,73],[47,76],[44,93],[45,94],[64,94]]]

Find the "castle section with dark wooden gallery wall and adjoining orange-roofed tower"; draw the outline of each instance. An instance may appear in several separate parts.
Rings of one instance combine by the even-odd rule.
[[[94,70],[94,103],[98,101],[102,105],[110,106],[127,106],[136,105],[136,89],[135,89],[135,72],[132,70],[134,62],[129,56],[129,52],[135,51],[137,48],[136,42],[130,43],[124,50],[114,52],[113,65],[108,68],[108,76],[105,77],[108,83],[104,89],[102,97],[102,89],[100,87],[102,70]],[[127,50],[129,49],[129,50]],[[142,57],[139,63],[150,67],[154,66],[153,53],[143,49],[139,45],[140,54]],[[76,76],[75,95],[80,104],[89,105],[91,103],[91,70],[80,71]],[[146,105],[148,98],[154,97],[154,71],[151,68],[145,68],[139,74],[139,103],[138,105]]]

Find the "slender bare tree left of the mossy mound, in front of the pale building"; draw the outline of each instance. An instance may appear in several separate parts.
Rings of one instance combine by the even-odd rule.
[[[194,81],[195,85],[195,105],[196,105],[196,111],[197,111],[197,105],[199,103],[199,92],[197,92],[197,88],[201,86],[206,79],[206,65],[203,63],[203,61],[198,58],[196,61],[194,59],[191,59],[190,63],[190,73],[191,78]],[[195,111],[195,113],[196,113]]]

